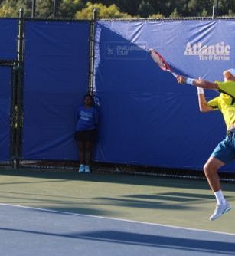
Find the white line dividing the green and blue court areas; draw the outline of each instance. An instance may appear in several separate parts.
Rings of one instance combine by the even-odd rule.
[[[12,204],[5,204],[5,203],[0,203],[0,205],[17,207],[17,208],[26,208],[26,209],[28,208],[31,210],[37,210],[37,211],[41,211],[41,212],[60,213],[60,214],[64,214],[64,215],[73,215],[73,216],[90,217],[90,218],[102,218],[102,219],[108,219],[108,220],[113,220],[113,221],[131,222],[131,223],[138,223],[138,224],[144,224],[144,225],[160,226],[160,227],[165,227],[165,228],[178,228],[178,229],[189,230],[189,231],[201,231],[201,232],[209,232],[209,233],[220,234],[220,235],[232,235],[235,237],[235,234],[233,234],[233,233],[211,231],[211,230],[207,230],[207,229],[183,228],[183,227],[178,227],[178,226],[173,226],[173,225],[164,225],[164,224],[158,224],[158,223],[152,223],[152,222],[132,221],[132,220],[125,219],[125,218],[112,218],[112,217],[103,217],[103,216],[97,216],[97,215],[85,215],[85,214],[80,214],[80,213],[75,213],[75,212],[62,212],[62,211],[55,211],[55,210],[50,210],[50,209],[36,208],[36,207],[30,207],[30,206],[24,206],[24,205],[12,205]]]

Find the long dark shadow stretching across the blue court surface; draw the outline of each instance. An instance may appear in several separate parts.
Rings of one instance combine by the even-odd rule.
[[[18,235],[25,233],[27,235],[43,235],[54,238],[58,237],[88,241],[102,241],[112,244],[136,245],[148,248],[168,248],[176,251],[188,251],[188,253],[190,253],[191,255],[193,255],[193,252],[235,255],[234,243],[230,242],[199,240],[190,238],[174,238],[171,236],[167,237],[161,235],[145,235],[127,231],[94,231],[71,234],[58,234],[44,231],[30,231],[16,228],[0,228],[0,231],[10,231],[18,233]],[[97,250],[102,251],[102,249],[99,247],[97,248]]]

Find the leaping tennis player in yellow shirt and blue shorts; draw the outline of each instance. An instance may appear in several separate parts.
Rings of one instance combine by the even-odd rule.
[[[191,84],[197,87],[198,103],[201,112],[220,110],[227,126],[227,136],[222,140],[204,165],[204,173],[214,192],[217,205],[210,220],[214,221],[224,213],[230,211],[231,205],[224,199],[220,188],[218,169],[235,159],[235,69],[224,71],[224,82],[192,79],[178,76],[179,84]],[[210,101],[204,97],[204,89],[220,91],[220,95]]]

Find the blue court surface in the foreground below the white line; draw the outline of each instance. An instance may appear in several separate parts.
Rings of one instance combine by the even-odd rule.
[[[39,255],[235,255],[235,234],[0,204],[0,251]]]

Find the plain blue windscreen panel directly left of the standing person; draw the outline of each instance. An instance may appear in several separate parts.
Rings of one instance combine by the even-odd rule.
[[[23,159],[78,159],[75,111],[88,90],[90,23],[25,22]]]

